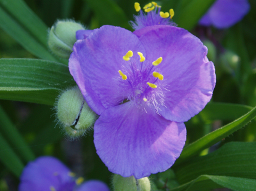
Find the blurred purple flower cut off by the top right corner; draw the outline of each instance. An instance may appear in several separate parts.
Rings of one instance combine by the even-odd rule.
[[[217,0],[199,21],[200,25],[216,28],[228,28],[242,20],[249,12],[250,4],[247,0]]]

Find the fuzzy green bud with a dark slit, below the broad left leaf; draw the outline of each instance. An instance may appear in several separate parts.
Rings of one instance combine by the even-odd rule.
[[[56,103],[57,119],[70,139],[85,134],[96,120],[96,114],[86,103],[76,86],[65,90]]]

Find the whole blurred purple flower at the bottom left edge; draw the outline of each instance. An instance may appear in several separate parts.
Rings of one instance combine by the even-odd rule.
[[[74,173],[56,158],[39,157],[24,168],[19,191],[109,191],[101,181],[81,184],[82,180],[75,179]]]

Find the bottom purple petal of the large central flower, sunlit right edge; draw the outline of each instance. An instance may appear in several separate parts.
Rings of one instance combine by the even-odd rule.
[[[106,109],[94,125],[97,154],[112,173],[137,179],[170,168],[186,141],[184,123],[171,122],[133,101]]]

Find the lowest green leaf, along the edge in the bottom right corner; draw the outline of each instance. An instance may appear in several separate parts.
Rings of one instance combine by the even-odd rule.
[[[242,177],[202,175],[170,191],[204,191],[222,187],[236,191],[254,191],[256,190],[256,180]]]

